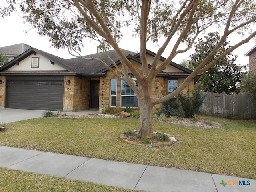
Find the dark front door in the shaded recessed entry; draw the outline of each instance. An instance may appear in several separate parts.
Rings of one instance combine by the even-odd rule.
[[[90,108],[99,108],[100,81],[90,82]]]

